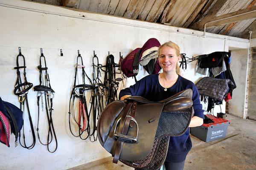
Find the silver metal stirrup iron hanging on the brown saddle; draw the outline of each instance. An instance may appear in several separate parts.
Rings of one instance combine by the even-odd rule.
[[[129,124],[131,123],[131,121],[133,121],[136,125],[137,125],[137,133],[136,133],[136,136],[129,136],[129,135],[125,135],[125,134],[122,134],[122,133],[116,133],[116,127],[117,125],[120,123],[121,121],[121,118],[119,118],[116,122],[116,127],[115,127],[115,130],[114,130],[114,137],[115,139],[118,139],[118,140],[121,140],[121,141],[124,141],[124,142],[129,142],[129,143],[136,143],[137,142],[137,139],[138,139],[138,133],[139,133],[139,126],[138,126],[138,123],[137,121],[132,117],[132,116],[126,116],[125,117],[125,120],[127,117],[130,117],[131,120],[129,122]]]

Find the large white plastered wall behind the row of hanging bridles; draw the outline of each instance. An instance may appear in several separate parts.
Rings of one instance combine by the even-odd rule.
[[[40,48],[43,48],[51,85],[56,92],[53,120],[58,138],[58,150],[55,153],[48,153],[46,147],[38,141],[32,150],[23,149],[20,145],[15,148],[14,136],[11,136],[10,148],[0,144],[1,170],[62,170],[109,156],[99,142],[82,141],[73,137],[68,129],[68,103],[78,49],[84,59],[86,72],[91,77],[93,50],[96,51],[102,64],[105,63],[108,51],[118,62],[119,51],[125,56],[131,50],[141,47],[151,37],[157,38],[160,43],[169,40],[176,42],[181,52],[186,53],[188,57],[223,51],[230,46],[234,48],[249,46],[247,40],[235,37],[215,34],[207,34],[207,37],[203,37],[203,32],[200,31],[20,0],[0,0],[0,23],[2,99],[19,106],[17,96],[13,94],[16,80],[16,71],[13,67],[16,65],[18,47],[21,47],[22,54],[26,57],[27,79],[34,85],[39,84],[36,67]],[[60,48],[63,49],[63,57],[60,56]],[[183,71],[183,76],[193,82],[202,77],[195,73],[195,66],[196,63],[192,62]],[[140,74],[142,73],[141,71]],[[35,126],[36,93],[29,91],[28,99]],[[40,124],[45,125],[45,120],[41,119]]]

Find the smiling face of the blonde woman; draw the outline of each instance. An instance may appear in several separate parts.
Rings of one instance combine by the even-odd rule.
[[[159,51],[159,64],[163,72],[176,72],[176,64],[180,60],[174,48],[163,46]]]

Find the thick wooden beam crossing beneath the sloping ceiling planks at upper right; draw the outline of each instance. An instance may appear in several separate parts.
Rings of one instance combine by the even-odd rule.
[[[215,20],[220,20],[220,21],[216,21],[214,23],[207,24],[207,28],[213,27],[213,26],[219,26],[219,25],[227,24],[227,23],[233,23],[233,22],[240,21],[240,20],[248,20],[248,19],[256,18],[256,11],[255,10],[256,10],[256,6],[252,6],[250,8],[241,9],[239,11],[232,12],[232,13],[229,13],[229,14],[224,14],[224,15],[221,15],[221,16],[218,16],[218,17],[213,17],[211,21],[215,21]],[[250,12],[250,11],[252,11],[252,12]],[[250,13],[248,13],[248,12],[250,12]],[[235,15],[238,15],[238,14],[241,14],[241,15],[236,16],[236,17],[232,17],[232,16],[235,16]],[[221,20],[221,19],[224,19],[224,18],[227,18],[227,17],[232,17],[232,18]]]

